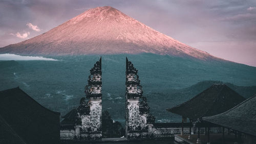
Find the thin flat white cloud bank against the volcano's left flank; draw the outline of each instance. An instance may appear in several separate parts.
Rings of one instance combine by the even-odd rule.
[[[49,61],[58,61],[58,60],[52,59],[52,58],[19,56],[19,55],[15,55],[15,54],[0,54],[0,60],[49,60]]]

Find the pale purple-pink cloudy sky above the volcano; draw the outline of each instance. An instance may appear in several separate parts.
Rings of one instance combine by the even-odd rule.
[[[255,0],[0,0],[0,47],[102,6],[216,57],[256,66]]]

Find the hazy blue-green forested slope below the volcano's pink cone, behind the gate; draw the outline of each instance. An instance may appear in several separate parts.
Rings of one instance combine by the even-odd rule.
[[[103,110],[116,121],[125,115],[125,56],[139,70],[144,96],[156,120],[180,121],[165,109],[189,100],[216,82],[248,98],[256,93],[256,67],[154,54],[103,55]],[[89,70],[100,56],[52,57],[59,61],[0,61],[0,90],[19,86],[40,104],[66,114],[84,97]]]

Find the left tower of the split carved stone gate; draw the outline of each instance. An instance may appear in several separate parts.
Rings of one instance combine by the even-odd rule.
[[[101,136],[101,58],[94,64],[94,67],[90,70],[91,75],[88,78],[88,85],[85,87],[86,98],[89,99],[88,104],[83,102],[85,98],[80,101],[80,113],[81,118],[81,132],[80,133],[97,133]],[[83,112],[83,109],[90,108],[90,112]]]

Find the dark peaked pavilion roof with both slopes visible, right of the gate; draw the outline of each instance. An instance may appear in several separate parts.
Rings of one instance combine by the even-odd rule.
[[[244,97],[225,84],[214,84],[189,101],[167,111],[197,119],[227,111],[244,100]]]

